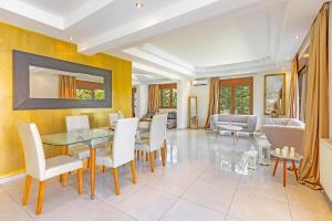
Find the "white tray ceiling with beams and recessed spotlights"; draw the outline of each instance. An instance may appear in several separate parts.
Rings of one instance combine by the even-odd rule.
[[[288,69],[324,2],[141,1],[0,0],[0,21],[131,60],[148,83]]]

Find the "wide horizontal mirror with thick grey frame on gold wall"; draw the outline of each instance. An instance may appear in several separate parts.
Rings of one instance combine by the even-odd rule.
[[[13,51],[13,108],[111,107],[111,71]]]

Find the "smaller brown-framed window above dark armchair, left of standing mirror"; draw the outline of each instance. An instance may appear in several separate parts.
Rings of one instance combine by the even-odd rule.
[[[177,88],[176,84],[159,85],[159,107],[176,108],[177,106]]]

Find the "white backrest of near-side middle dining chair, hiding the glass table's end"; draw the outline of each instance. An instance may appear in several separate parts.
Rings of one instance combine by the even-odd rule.
[[[112,146],[113,166],[118,167],[134,159],[138,118],[118,119]]]

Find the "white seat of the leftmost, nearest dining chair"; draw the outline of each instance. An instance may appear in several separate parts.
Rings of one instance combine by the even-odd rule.
[[[82,160],[61,155],[46,159],[45,179],[63,175],[83,167]]]

